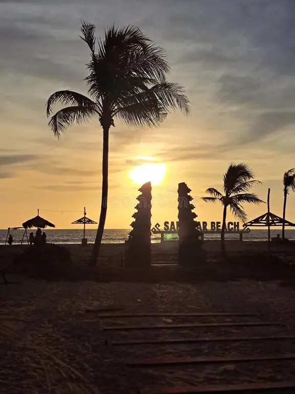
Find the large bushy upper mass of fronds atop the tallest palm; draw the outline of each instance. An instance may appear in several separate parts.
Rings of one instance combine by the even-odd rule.
[[[99,51],[87,65],[86,78],[91,96],[110,103],[130,92],[132,95],[148,86],[165,82],[170,71],[165,51],[154,45],[136,26],[106,31],[99,41]]]

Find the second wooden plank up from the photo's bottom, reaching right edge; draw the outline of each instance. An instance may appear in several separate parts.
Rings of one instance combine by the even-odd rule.
[[[276,361],[294,360],[295,354],[279,354],[267,356],[228,356],[228,357],[174,357],[174,358],[155,358],[127,361],[129,367],[159,367],[184,364],[215,364],[215,363],[242,363],[247,361]]]

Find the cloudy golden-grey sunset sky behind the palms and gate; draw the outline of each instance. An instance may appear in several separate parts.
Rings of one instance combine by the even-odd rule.
[[[198,220],[220,221],[222,208],[200,200],[222,187],[229,163],[246,162],[271,188],[282,215],[284,171],[295,167],[295,3],[293,0],[0,0],[0,228],[37,214],[56,228],[100,211],[102,132],[98,120],[56,140],[45,105],[51,93],[87,93],[89,53],[80,21],[97,35],[136,25],[167,52],[168,80],[186,89],[192,113],[170,114],[157,129],[119,121],[110,136],[106,228],[129,228],[138,185],[129,172],[152,156],[166,165],[153,187],[152,225],[177,220],[177,187],[192,189]],[[295,221],[295,194],[286,218]],[[248,218],[266,205],[245,205]],[[62,213],[61,213],[62,212]],[[228,216],[228,220],[231,216]]]

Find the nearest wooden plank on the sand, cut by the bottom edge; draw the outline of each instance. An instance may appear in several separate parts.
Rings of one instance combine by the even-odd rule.
[[[188,386],[188,387],[165,387],[165,388],[146,388],[139,390],[139,394],[197,394],[206,392],[214,394],[217,392],[224,393],[246,393],[259,391],[278,392],[295,387],[295,380],[290,382],[278,383],[244,383],[233,385],[214,385],[214,386]]]

